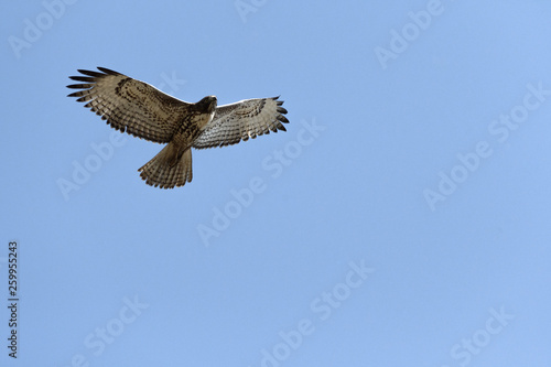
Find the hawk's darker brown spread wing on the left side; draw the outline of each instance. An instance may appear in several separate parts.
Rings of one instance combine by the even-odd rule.
[[[98,69],[101,73],[78,71],[85,76],[71,76],[84,84],[68,85],[67,88],[82,89],[68,97],[87,102],[84,107],[121,132],[158,143],[171,141],[177,122],[188,114],[190,104],[147,83],[105,67]]]

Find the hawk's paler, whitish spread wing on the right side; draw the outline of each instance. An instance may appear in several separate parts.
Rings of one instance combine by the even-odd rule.
[[[213,120],[194,141],[196,149],[225,147],[257,136],[285,131],[282,122],[287,110],[282,100],[274,98],[246,99],[216,108]]]

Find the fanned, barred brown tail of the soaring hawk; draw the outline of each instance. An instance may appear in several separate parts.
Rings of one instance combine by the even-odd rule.
[[[179,156],[173,142],[164,147],[151,161],[138,171],[148,185],[173,188],[192,182],[192,150],[186,149]]]

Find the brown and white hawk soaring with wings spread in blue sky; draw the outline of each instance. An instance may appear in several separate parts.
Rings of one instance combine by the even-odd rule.
[[[140,139],[168,143],[138,171],[148,185],[173,188],[192,182],[192,148],[237,144],[257,136],[285,131],[287,110],[279,97],[240,100],[217,106],[215,96],[196,104],[169,96],[150,84],[98,67],[78,69],[68,85],[80,89],[67,97],[106,120],[111,128]]]

